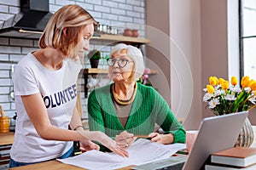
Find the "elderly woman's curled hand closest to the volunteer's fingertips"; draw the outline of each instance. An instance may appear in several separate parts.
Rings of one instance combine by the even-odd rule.
[[[115,136],[116,144],[125,150],[127,150],[136,139],[137,137],[135,137],[132,133],[127,133],[126,131]]]

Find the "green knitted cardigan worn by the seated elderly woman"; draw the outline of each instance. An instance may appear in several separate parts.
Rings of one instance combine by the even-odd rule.
[[[186,131],[172,114],[166,100],[154,88],[137,83],[137,94],[125,127],[119,122],[111,98],[111,84],[94,89],[88,99],[90,131],[102,131],[114,139],[122,131],[135,135],[154,132],[155,123],[174,136],[173,143],[185,143]]]

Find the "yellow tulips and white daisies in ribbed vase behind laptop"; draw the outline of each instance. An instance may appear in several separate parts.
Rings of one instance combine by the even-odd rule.
[[[256,106],[255,90],[256,81],[249,77],[242,77],[241,87],[237,84],[236,77],[231,77],[230,82],[223,78],[209,77],[203,101],[207,102],[207,107],[217,116],[251,111]],[[249,147],[253,144],[253,138],[253,127],[246,119],[235,146]]]

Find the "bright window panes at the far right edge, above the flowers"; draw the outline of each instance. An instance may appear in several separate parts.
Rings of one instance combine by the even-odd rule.
[[[241,76],[256,80],[256,1],[240,0]]]

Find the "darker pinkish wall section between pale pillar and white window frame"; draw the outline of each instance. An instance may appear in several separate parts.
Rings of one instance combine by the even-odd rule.
[[[201,0],[201,85],[208,77],[229,78],[227,0]],[[202,116],[213,116],[203,104]]]

